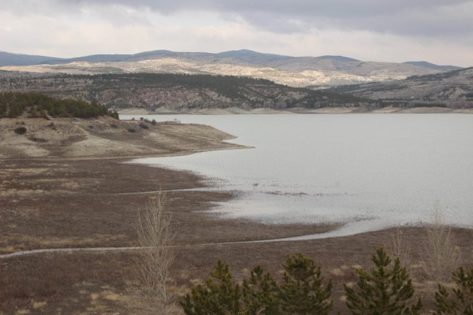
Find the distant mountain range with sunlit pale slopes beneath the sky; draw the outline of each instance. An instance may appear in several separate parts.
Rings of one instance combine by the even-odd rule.
[[[405,79],[461,69],[426,61],[389,63],[342,56],[291,57],[242,49],[212,54],[155,50],[70,59],[0,52],[0,70],[37,73],[187,73],[265,78],[294,87],[327,87]]]

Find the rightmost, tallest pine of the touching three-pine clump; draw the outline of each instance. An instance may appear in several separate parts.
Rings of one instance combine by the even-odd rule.
[[[287,256],[282,266],[285,268],[280,287],[282,314],[328,314],[333,307],[330,300],[333,283],[330,280],[323,285],[321,267],[302,254]]]

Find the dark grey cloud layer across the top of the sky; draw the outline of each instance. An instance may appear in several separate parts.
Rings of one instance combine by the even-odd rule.
[[[462,37],[473,30],[473,1],[467,0],[20,0],[0,4],[16,13],[78,11],[90,6],[125,6],[170,15],[212,11],[234,15],[271,32],[339,28],[408,36]]]

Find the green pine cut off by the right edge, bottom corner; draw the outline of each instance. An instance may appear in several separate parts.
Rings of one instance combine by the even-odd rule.
[[[473,315],[473,268],[465,273],[459,268],[453,273],[453,280],[457,287],[453,289],[455,299],[450,298],[447,289],[438,285],[435,294],[436,315]]]

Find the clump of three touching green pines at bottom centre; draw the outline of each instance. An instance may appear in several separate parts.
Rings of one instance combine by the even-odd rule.
[[[217,262],[205,285],[193,287],[180,302],[186,315],[325,315],[330,312],[333,284],[323,284],[321,268],[302,254],[287,256],[282,285],[261,266],[243,285],[234,283],[228,265]]]

